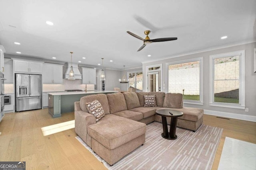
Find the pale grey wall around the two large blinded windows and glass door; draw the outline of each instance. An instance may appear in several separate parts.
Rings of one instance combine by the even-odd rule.
[[[164,59],[160,61],[154,61],[150,63],[142,64],[143,68],[143,91],[147,91],[146,86],[146,66],[154,65],[154,64],[163,64],[163,81],[165,81],[167,76],[167,68],[166,63],[173,62],[173,61],[180,61],[185,59],[193,59],[197,57],[203,57],[203,98],[204,98],[204,105],[193,105],[193,104],[184,104],[186,107],[198,107],[203,108],[205,110],[211,111],[220,111],[220,112],[228,112],[228,113],[235,113],[240,115],[251,115],[256,116],[256,73],[254,73],[254,45],[256,43],[249,43],[244,45],[237,45],[233,47],[227,47],[222,49],[216,49],[212,51],[206,51],[202,53],[196,53],[191,55],[185,55],[170,59]],[[246,99],[245,104],[246,107],[249,108],[249,112],[245,112],[244,109],[233,109],[233,108],[226,108],[226,107],[216,107],[216,106],[209,106],[210,101],[210,55],[221,54],[221,53],[228,53],[232,51],[239,51],[245,50],[245,93]],[[167,92],[167,83],[166,89],[163,89],[164,92]],[[254,119],[255,117],[253,117]]]

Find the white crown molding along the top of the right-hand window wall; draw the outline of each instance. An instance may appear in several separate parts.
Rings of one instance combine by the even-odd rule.
[[[177,55],[171,55],[169,57],[162,57],[162,58],[158,58],[158,59],[154,59],[154,60],[142,61],[141,63],[142,64],[151,63],[151,62],[154,62],[154,61],[172,59],[172,58],[175,58],[175,57],[182,57],[182,56],[186,56],[186,55],[203,53],[203,52],[217,50],[217,49],[224,49],[224,48],[228,48],[228,47],[234,47],[234,46],[237,46],[237,45],[244,45],[244,44],[249,44],[249,43],[253,43],[253,42],[254,42],[254,39],[248,39],[248,40],[245,40],[245,41],[238,41],[238,42],[235,42],[235,43],[229,43],[229,44],[225,44],[225,45],[221,45],[221,46],[210,47],[210,48],[201,49],[201,50],[195,50],[195,51],[190,51],[190,52],[187,52],[187,53],[180,53],[180,54],[177,54]]]

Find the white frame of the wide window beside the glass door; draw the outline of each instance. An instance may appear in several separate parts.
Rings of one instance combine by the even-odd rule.
[[[204,105],[204,93],[203,93],[203,57],[197,57],[197,58],[193,58],[193,59],[186,59],[186,60],[180,60],[180,61],[174,61],[174,62],[169,62],[166,63],[166,93],[168,93],[169,91],[169,65],[174,65],[174,64],[182,64],[182,63],[190,63],[190,62],[195,62],[195,61],[199,61],[199,65],[200,65],[200,100],[196,101],[196,100],[183,100],[183,102],[185,104],[197,104],[197,105]]]

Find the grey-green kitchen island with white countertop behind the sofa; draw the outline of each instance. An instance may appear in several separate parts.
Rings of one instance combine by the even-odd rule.
[[[62,113],[74,111],[74,102],[79,102],[80,98],[92,94],[108,94],[117,91],[82,91],[82,92],[52,92],[48,93],[48,113],[52,117],[60,117]]]

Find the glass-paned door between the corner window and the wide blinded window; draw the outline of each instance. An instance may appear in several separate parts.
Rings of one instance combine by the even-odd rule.
[[[148,92],[161,92],[161,72],[148,72]]]

